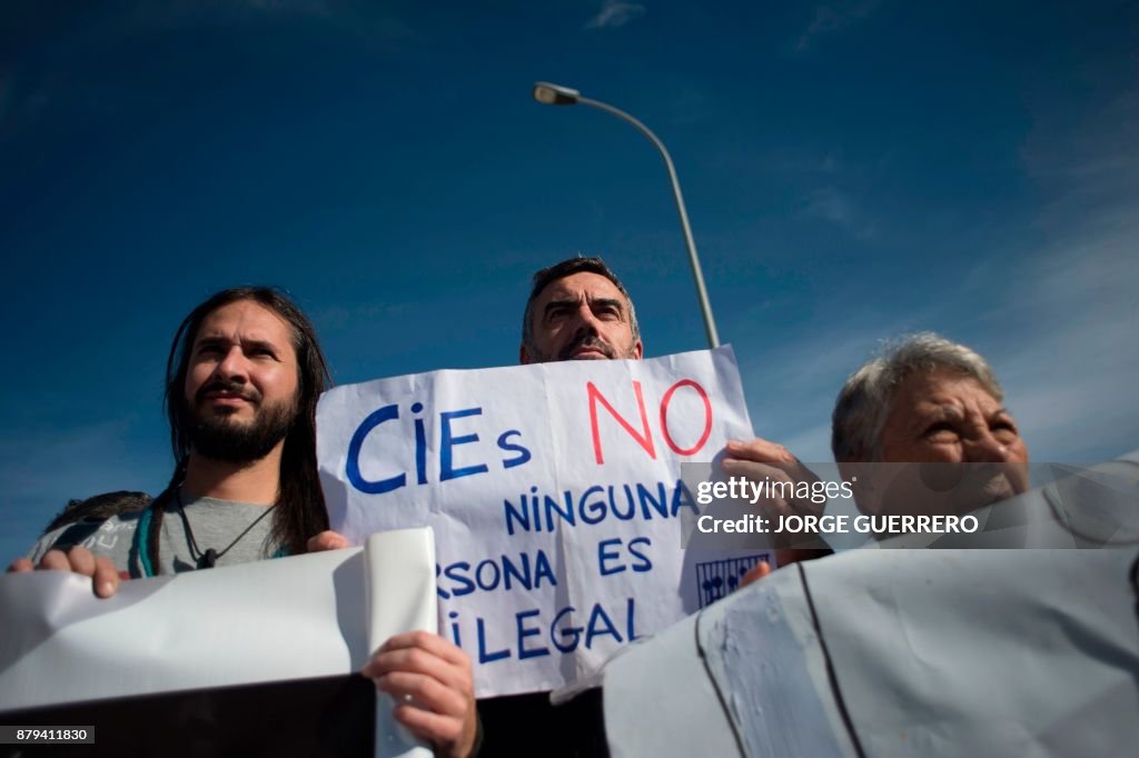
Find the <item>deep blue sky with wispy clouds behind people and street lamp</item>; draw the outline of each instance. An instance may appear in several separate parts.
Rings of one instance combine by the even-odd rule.
[[[222,287],[288,289],[338,384],[514,363],[576,253],[647,355],[703,347],[658,155],[535,80],[669,146],[759,435],[830,460],[845,376],[933,329],[1034,461],[1136,448],[1139,8],[993,5],[3,3],[0,549],[162,488],[169,340]]]

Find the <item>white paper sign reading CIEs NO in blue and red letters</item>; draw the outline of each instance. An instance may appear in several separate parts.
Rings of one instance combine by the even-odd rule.
[[[440,631],[480,697],[573,682],[759,560],[681,549],[681,462],[752,437],[730,347],[337,387],[317,428],[334,529],[434,528]]]

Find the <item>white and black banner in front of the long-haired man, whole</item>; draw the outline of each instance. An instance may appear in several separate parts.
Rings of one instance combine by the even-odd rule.
[[[387,637],[434,628],[434,562],[431,532],[404,529],[106,600],[77,574],[0,576],[0,723],[89,725],[84,755],[431,756],[391,697],[358,683]]]

